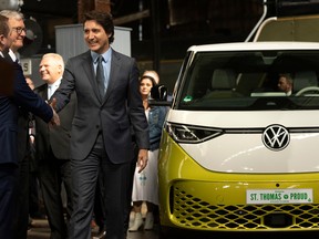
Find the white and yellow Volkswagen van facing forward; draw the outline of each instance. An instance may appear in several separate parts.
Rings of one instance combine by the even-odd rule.
[[[318,73],[319,43],[189,48],[161,143],[162,228],[319,230]]]

